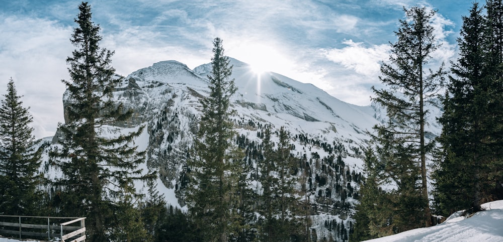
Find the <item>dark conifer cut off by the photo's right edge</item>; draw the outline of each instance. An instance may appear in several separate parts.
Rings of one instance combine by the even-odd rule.
[[[482,83],[474,101],[478,112],[485,115],[482,126],[484,136],[480,142],[489,155],[483,157],[484,181],[481,183],[481,199],[485,201],[503,198],[503,3],[501,0],[486,1],[484,31],[485,66]],[[478,114],[478,113],[477,113]]]

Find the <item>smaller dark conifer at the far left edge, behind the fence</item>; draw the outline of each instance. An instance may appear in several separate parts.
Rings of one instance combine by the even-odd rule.
[[[35,215],[36,204],[42,199],[37,191],[42,149],[35,148],[33,128],[29,126],[33,118],[23,106],[12,78],[4,97],[0,107],[1,213]]]

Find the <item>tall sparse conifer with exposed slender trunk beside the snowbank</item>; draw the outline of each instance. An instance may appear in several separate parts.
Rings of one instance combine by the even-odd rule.
[[[427,72],[426,67],[431,60],[430,55],[439,47],[431,24],[435,12],[427,11],[425,7],[412,7],[404,11],[406,19],[400,20],[400,28],[395,32],[398,40],[391,44],[389,64],[381,65],[382,76],[379,79],[386,88],[372,87],[376,95],[373,100],[386,108],[389,122],[377,125],[374,129],[377,131],[377,141],[381,143],[378,146],[387,143],[385,146],[400,152],[392,160],[384,161],[391,176],[401,174],[398,176],[410,177],[407,180],[411,183],[402,185],[412,188],[417,182],[416,170],[419,171],[422,184],[420,207],[424,212],[424,224],[430,226],[426,160],[433,144],[428,144],[425,137],[428,114],[425,104],[439,91],[445,71],[443,64],[437,71],[430,69]]]

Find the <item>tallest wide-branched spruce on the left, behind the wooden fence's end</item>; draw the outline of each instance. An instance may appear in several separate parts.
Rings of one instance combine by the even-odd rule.
[[[152,177],[142,174],[144,152],[132,144],[143,127],[126,134],[112,127],[131,111],[113,101],[121,78],[111,66],[113,52],[99,46],[100,27],[92,22],[91,7],[82,3],[78,9],[78,27],[70,39],[76,49],[66,59],[71,80],[62,81],[68,100],[65,124],[59,125],[62,137],[50,157],[63,174],[57,183],[62,213],[87,217],[89,240],[108,241],[124,237],[110,228],[124,227],[118,218],[134,210],[131,201],[140,194],[133,182]]]

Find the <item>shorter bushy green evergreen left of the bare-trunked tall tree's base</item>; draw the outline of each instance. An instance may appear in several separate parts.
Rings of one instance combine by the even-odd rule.
[[[357,240],[391,235],[421,224],[422,209],[419,168],[411,162],[402,146],[387,142],[392,137],[378,135],[365,150],[364,170],[367,174],[361,186],[360,204],[357,205],[355,232]],[[387,136],[391,134],[386,133]],[[375,147],[375,148],[372,148]],[[392,172],[390,172],[392,171]],[[393,184],[391,190],[383,185]]]

